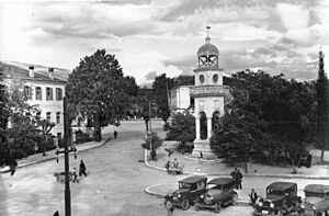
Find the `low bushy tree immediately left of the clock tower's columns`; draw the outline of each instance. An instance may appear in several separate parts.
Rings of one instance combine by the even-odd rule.
[[[180,141],[181,148],[185,148],[186,143],[192,143],[195,139],[195,118],[190,113],[178,113],[172,116],[169,132],[167,133],[168,140]]]

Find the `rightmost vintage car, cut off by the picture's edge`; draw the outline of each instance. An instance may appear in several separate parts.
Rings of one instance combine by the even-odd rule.
[[[305,216],[329,215],[329,185],[308,184],[304,187],[302,208]]]

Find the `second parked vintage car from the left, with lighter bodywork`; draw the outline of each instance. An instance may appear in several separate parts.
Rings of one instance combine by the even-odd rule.
[[[231,178],[215,178],[207,183],[207,192],[202,194],[196,201],[194,207],[213,208],[219,213],[223,206],[235,204],[238,200],[237,192],[234,191],[235,182]]]

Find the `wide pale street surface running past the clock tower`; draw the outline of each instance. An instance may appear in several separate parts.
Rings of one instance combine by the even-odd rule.
[[[162,122],[154,121],[152,128],[161,130]],[[145,189],[152,184],[174,183],[180,175],[168,175],[155,169],[147,168],[140,160],[144,150],[140,144],[144,139],[145,123],[141,121],[123,122],[118,128],[117,139],[113,138],[114,127],[107,127],[103,133],[111,133],[112,139],[95,149],[70,157],[70,169],[79,168],[82,159],[90,175],[80,183],[71,183],[71,215],[109,216],[109,215],[166,215],[163,201],[151,196]],[[46,216],[64,211],[65,185],[57,182],[54,173],[64,171],[64,158],[21,168],[13,177],[0,174],[0,216]],[[246,190],[254,187],[261,195],[264,186],[276,181],[269,178],[243,178]],[[324,183],[318,180],[282,180],[298,183],[299,194],[308,183]],[[248,185],[248,186],[247,186]],[[251,215],[251,207],[229,206],[219,215]],[[214,215],[211,211],[195,212],[193,208],[183,212],[175,209],[174,215]]]

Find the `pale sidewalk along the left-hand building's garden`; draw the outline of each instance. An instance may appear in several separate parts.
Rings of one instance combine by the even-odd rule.
[[[84,144],[78,144],[77,145],[77,154],[89,150],[89,149],[100,147],[100,146],[106,144],[109,140],[110,140],[110,134],[104,134],[103,139],[101,141],[89,141],[89,143],[84,143]],[[64,150],[64,148],[60,148],[59,150]],[[73,155],[73,152],[70,152],[70,155]],[[61,158],[61,157],[64,157],[64,154],[60,154],[58,156],[58,158]],[[55,160],[56,158],[57,158],[56,149],[46,151],[46,156],[43,156],[42,152],[36,154],[36,155],[32,155],[32,156],[29,156],[26,158],[19,159],[18,160],[18,168],[32,166],[32,164],[36,164],[36,163],[39,163],[39,162],[45,162],[45,161],[48,161],[48,160]],[[7,172],[7,171],[9,171],[8,168],[3,168],[3,169],[0,170],[0,173]]]

